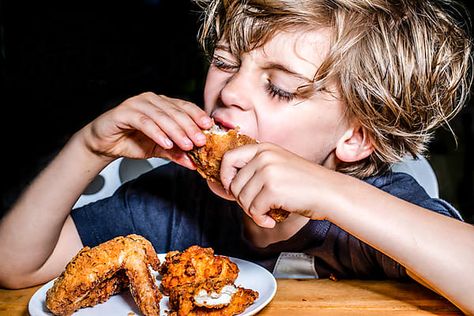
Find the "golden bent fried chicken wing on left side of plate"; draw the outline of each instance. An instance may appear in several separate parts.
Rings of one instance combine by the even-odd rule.
[[[144,315],[159,315],[162,295],[150,271],[158,270],[159,265],[152,244],[139,235],[84,247],[47,291],[46,307],[54,315],[71,315],[129,287]]]

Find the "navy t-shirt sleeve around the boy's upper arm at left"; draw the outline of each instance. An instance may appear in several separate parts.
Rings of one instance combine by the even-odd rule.
[[[82,243],[92,247],[132,233],[156,240],[156,231],[167,239],[168,213],[157,210],[173,209],[177,170],[174,164],[160,166],[124,183],[112,196],[74,209],[71,216]]]

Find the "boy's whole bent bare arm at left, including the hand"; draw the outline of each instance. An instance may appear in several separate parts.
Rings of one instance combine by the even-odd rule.
[[[0,286],[57,276],[82,247],[69,216],[86,186],[117,157],[162,157],[194,168],[185,151],[203,145],[211,119],[196,105],[144,93],[78,131],[0,221]]]

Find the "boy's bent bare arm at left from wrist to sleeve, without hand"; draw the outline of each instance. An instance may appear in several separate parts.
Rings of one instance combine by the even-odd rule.
[[[76,135],[27,188],[0,223],[3,286],[45,282],[82,247],[69,212],[107,163],[88,152]]]

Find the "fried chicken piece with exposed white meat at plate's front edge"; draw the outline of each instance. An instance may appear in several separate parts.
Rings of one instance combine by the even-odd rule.
[[[199,285],[171,289],[170,316],[221,315],[242,313],[258,298],[258,292],[232,283],[209,280]]]

